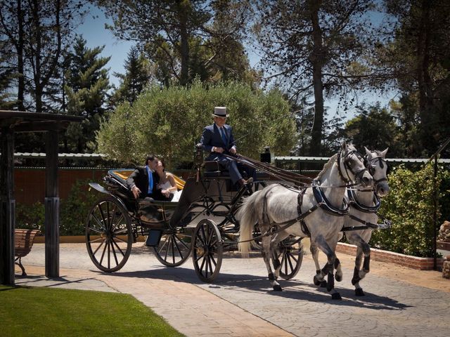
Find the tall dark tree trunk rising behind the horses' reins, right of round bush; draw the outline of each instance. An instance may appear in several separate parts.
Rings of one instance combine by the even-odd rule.
[[[325,58],[325,52],[322,45],[322,29],[319,24],[319,8],[321,1],[309,1],[312,37],[313,37],[313,51],[309,60],[312,65],[313,86],[314,86],[314,123],[311,131],[311,147],[309,154],[311,156],[321,155],[321,140],[323,128],[323,82],[322,82],[322,68]]]

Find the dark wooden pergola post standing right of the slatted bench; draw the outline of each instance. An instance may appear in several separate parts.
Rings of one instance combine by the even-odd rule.
[[[59,277],[58,131],[46,134],[45,275]]]

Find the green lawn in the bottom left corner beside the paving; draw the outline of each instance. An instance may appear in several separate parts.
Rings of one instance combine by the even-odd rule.
[[[0,286],[0,336],[184,336],[133,296]]]

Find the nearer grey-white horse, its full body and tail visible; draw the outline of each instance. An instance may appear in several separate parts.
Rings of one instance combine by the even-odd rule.
[[[356,182],[371,186],[373,178],[354,146],[344,142],[340,152],[328,160],[314,181],[313,186],[304,190],[280,184],[269,185],[245,199],[237,214],[240,219],[239,251],[248,253],[252,231],[258,223],[264,235],[262,256],[269,281],[274,291],[281,291],[276,281],[281,268],[278,243],[289,235],[311,237],[311,242],[328,258],[321,270],[321,279],[328,275],[327,290],[333,299],[340,299],[340,294],[334,289],[334,266],[338,233],[348,208],[343,205],[345,187]]]

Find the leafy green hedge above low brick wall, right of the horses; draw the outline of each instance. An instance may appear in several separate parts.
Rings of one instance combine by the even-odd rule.
[[[399,166],[389,175],[391,192],[383,198],[380,214],[392,220],[390,230],[374,231],[371,245],[375,248],[413,256],[432,257],[433,241],[433,166],[427,164],[413,172]],[[441,209],[449,206],[442,187],[450,183],[449,171],[439,169],[437,176]],[[438,207],[439,211],[439,207]],[[438,213],[438,223],[442,222]]]

